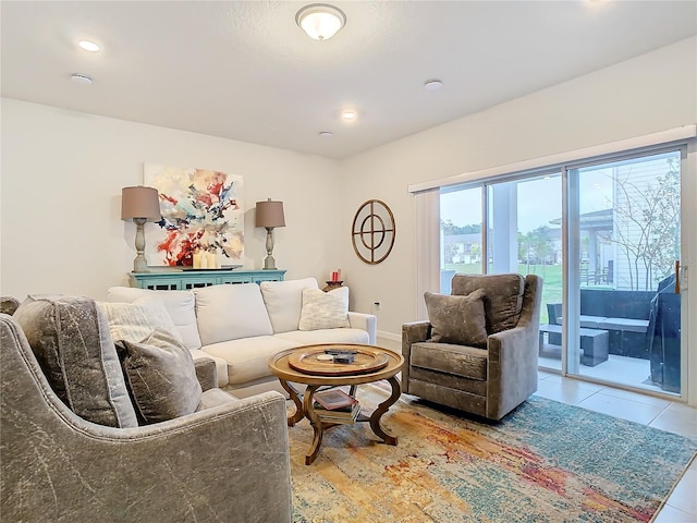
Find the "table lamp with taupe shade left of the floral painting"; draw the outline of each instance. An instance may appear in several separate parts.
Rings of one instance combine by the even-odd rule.
[[[135,251],[136,257],[133,260],[134,272],[147,272],[148,263],[145,259],[145,232],[146,221],[160,221],[160,198],[157,188],[123,187],[121,190],[121,219],[133,220],[135,222]]]

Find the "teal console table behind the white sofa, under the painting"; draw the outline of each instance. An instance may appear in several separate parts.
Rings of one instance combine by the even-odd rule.
[[[208,285],[283,281],[285,270],[168,270],[130,272],[131,287],[156,291],[186,291]]]

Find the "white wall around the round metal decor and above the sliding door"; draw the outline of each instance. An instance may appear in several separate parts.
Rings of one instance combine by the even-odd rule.
[[[416,319],[419,247],[407,185],[693,124],[696,94],[690,38],[344,160],[342,264],[355,307],[380,301],[378,330],[395,339]],[[398,231],[392,254],[375,266],[350,243],[353,215],[369,198],[392,208]]]

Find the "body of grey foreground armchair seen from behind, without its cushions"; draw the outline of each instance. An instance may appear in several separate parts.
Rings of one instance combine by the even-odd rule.
[[[200,412],[113,428],[57,398],[5,314],[0,348],[2,521],[291,521],[281,394],[231,402],[215,390]]]

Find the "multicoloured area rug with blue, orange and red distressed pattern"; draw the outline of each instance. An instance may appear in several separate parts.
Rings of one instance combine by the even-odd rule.
[[[362,386],[370,410],[388,393]],[[289,427],[295,523],[649,522],[697,440],[533,397],[488,423],[406,394],[382,418],[325,433]]]

